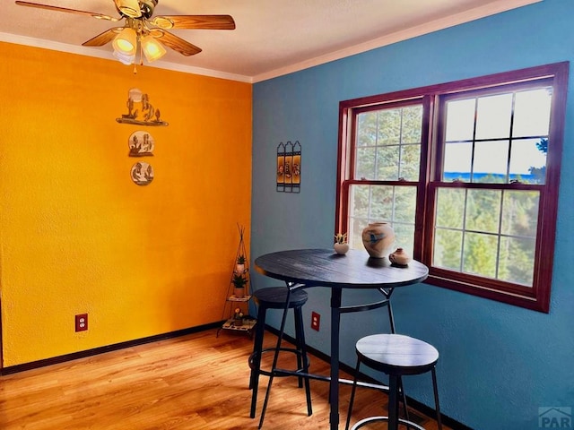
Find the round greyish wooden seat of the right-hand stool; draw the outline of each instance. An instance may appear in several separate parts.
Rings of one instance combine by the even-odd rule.
[[[365,365],[386,374],[424,374],[439,361],[437,348],[402,334],[373,334],[356,348]]]

